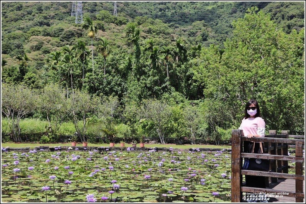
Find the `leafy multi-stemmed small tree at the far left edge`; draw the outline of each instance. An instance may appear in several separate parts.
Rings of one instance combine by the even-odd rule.
[[[20,119],[36,109],[37,96],[35,93],[21,85],[2,84],[1,111],[6,115],[12,126],[11,139],[21,142]]]

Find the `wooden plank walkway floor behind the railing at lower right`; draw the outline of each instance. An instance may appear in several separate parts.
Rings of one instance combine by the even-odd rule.
[[[268,189],[274,189],[274,190],[285,190],[288,189],[288,191],[295,191],[295,180],[294,179],[278,179],[277,183],[270,183]],[[305,192],[305,181],[303,181],[303,192]],[[288,197],[288,196],[279,196],[276,197],[276,195],[271,195],[269,202],[295,202],[294,197]],[[303,202],[305,202],[305,199],[303,199]]]

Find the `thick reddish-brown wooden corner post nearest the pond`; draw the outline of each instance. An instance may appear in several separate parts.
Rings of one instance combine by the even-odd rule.
[[[231,202],[242,202],[242,130],[232,130],[232,179],[231,179]]]

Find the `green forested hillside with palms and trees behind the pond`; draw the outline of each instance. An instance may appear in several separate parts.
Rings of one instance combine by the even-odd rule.
[[[226,142],[251,98],[267,130],[304,134],[304,2],[117,2],[118,16],[114,2],[83,2],[81,24],[71,9],[2,2],[11,140],[28,118],[50,141],[107,130]]]

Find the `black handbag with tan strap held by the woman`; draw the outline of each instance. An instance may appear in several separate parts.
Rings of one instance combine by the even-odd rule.
[[[255,142],[253,143],[252,153],[254,153]],[[260,154],[263,154],[263,147],[259,142]],[[269,171],[270,160],[269,159],[256,159],[256,158],[244,158],[242,166],[244,170],[255,170],[255,171]]]

